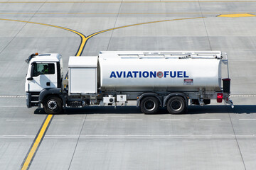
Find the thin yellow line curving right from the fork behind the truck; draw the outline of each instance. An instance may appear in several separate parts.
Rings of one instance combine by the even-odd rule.
[[[127,28],[127,27],[131,27],[131,26],[140,26],[140,25],[149,24],[149,23],[162,23],[162,22],[167,22],[167,21],[179,21],[179,20],[189,20],[189,19],[197,19],[197,18],[204,18],[204,17],[179,18],[179,19],[171,19],[171,20],[163,20],[163,21],[151,21],[151,22],[147,22],[147,23],[136,23],[136,24],[132,24],[132,25],[128,25],[128,26],[120,26],[120,27],[117,27],[117,28],[110,28],[110,29],[102,30],[102,31],[99,31],[97,33],[93,33],[92,35],[87,36],[85,38],[85,43],[87,42],[87,40],[89,40],[93,36],[98,35],[100,33],[105,33],[105,32],[110,31],[110,30],[117,30],[117,29],[120,29],[120,28]]]

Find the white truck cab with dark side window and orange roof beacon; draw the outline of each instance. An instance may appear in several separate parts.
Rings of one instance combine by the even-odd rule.
[[[38,107],[43,89],[59,89],[63,80],[63,61],[60,54],[32,54],[26,60],[25,91],[27,107]]]

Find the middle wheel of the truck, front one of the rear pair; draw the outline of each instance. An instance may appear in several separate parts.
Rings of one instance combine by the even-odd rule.
[[[142,113],[155,114],[159,111],[159,99],[153,96],[142,98],[139,106]]]

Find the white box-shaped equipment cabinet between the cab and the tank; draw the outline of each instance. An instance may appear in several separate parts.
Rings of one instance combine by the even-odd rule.
[[[70,57],[69,94],[97,94],[97,56]]]

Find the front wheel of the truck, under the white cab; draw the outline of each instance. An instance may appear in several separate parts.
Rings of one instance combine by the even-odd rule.
[[[47,114],[58,114],[63,110],[63,102],[57,96],[48,96],[43,100],[43,109]]]

